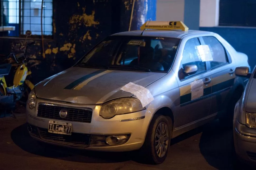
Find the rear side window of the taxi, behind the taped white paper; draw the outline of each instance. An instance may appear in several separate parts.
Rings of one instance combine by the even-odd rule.
[[[221,65],[227,64],[227,54],[226,50],[223,45],[217,40],[217,38],[213,36],[203,37],[205,44],[209,46],[211,54],[212,54],[212,61],[210,61],[211,69],[215,69]]]

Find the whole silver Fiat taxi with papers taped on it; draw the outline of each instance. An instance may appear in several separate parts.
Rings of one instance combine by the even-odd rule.
[[[26,107],[31,137],[85,150],[138,150],[159,164],[172,138],[217,117],[232,125],[244,90],[234,72],[249,67],[248,57],[216,33],[167,27],[111,35],[37,84]]]

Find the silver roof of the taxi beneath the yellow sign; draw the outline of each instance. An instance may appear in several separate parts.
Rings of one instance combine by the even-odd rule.
[[[140,36],[143,30],[135,30],[135,31],[126,31],[115,33],[111,36]],[[143,32],[143,36],[154,36],[154,37],[170,37],[170,38],[183,38],[186,35],[191,34],[200,34],[200,33],[208,33],[213,34],[213,32],[208,31],[199,31],[199,30],[188,30],[188,31],[179,31],[179,30],[145,30]]]

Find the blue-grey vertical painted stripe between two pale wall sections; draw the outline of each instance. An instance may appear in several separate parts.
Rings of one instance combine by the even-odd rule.
[[[185,0],[184,23],[190,30],[199,30],[200,0]]]

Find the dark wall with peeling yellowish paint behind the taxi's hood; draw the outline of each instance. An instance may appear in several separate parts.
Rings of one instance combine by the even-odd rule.
[[[132,0],[55,0],[53,3],[53,39],[44,39],[44,51],[41,39],[33,39],[35,45],[27,49],[30,58],[42,59],[28,63],[32,71],[29,79],[34,84],[71,67],[108,35],[129,28]],[[131,30],[138,29],[150,18],[155,20],[155,10],[156,0],[135,0]],[[21,52],[23,43],[22,38],[0,37],[0,62],[10,52]]]

